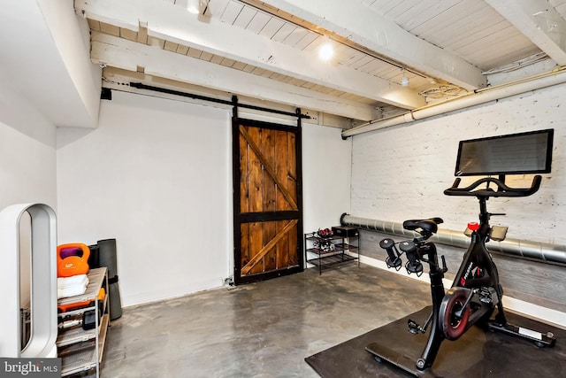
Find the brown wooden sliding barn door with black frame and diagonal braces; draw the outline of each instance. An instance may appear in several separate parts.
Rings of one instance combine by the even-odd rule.
[[[234,282],[303,270],[301,122],[233,119]]]

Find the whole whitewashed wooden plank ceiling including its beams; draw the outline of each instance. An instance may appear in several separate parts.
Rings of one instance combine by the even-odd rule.
[[[75,0],[105,85],[127,84],[119,69],[367,121],[486,87],[493,72],[566,64],[562,0],[201,0],[198,15],[189,3]]]

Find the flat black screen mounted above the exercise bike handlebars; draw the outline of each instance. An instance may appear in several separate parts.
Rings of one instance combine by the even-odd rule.
[[[555,130],[460,141],[455,176],[548,174]]]

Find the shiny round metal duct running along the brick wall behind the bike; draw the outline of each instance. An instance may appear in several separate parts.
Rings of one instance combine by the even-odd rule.
[[[390,235],[415,237],[417,233],[403,228],[402,223],[390,222],[386,220],[370,220],[367,218],[355,217],[342,214],[340,217],[342,226],[352,226],[355,228],[370,231],[379,231]],[[440,243],[459,248],[467,248],[470,238],[462,231],[449,229],[439,229],[436,235],[430,239],[434,243]],[[490,242],[489,251],[501,253],[518,258],[528,258],[550,264],[566,266],[566,245],[555,245],[551,243],[538,243],[519,239],[505,239],[503,242]]]

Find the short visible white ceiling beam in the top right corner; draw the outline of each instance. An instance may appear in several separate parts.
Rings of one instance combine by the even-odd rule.
[[[566,21],[547,0],[486,0],[559,66],[566,65]]]

